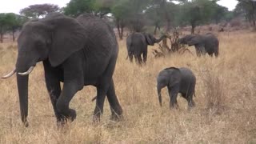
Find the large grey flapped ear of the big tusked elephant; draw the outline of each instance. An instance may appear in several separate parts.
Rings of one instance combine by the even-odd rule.
[[[52,26],[52,47],[49,54],[51,66],[60,65],[71,54],[85,46],[86,32],[76,19],[54,15],[53,18],[46,18],[42,22]]]

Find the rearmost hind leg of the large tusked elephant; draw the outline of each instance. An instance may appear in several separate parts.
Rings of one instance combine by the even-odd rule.
[[[106,96],[110,103],[110,110],[112,113],[110,119],[118,120],[122,118],[122,107],[120,106],[118,98],[115,94],[113,78],[111,79],[110,87],[109,90],[107,90]]]

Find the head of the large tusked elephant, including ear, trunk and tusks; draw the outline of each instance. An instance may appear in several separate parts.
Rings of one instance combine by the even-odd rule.
[[[51,66],[60,65],[70,54],[81,50],[86,39],[86,33],[78,21],[62,14],[50,14],[24,24],[18,37],[15,69],[3,78],[17,74],[20,112],[25,126],[28,126],[28,78],[34,66],[47,59]]]

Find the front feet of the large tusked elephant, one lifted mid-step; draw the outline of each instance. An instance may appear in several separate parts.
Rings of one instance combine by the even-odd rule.
[[[73,109],[69,109],[68,114],[60,114],[57,118],[58,126],[63,126],[66,122],[73,122],[77,117],[77,113]]]

